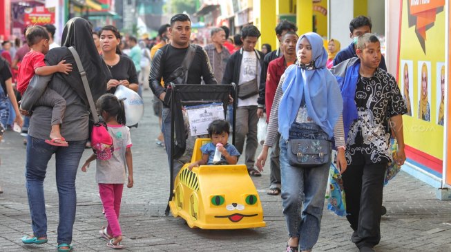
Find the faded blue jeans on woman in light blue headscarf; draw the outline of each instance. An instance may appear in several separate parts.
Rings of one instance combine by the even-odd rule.
[[[289,237],[299,238],[299,251],[311,250],[318,241],[330,162],[314,168],[292,167],[287,141],[280,137],[283,214]]]

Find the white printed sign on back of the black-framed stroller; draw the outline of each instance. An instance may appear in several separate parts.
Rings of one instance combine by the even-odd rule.
[[[211,103],[185,107],[188,114],[191,136],[208,134],[208,127],[213,120],[224,120],[222,103]]]

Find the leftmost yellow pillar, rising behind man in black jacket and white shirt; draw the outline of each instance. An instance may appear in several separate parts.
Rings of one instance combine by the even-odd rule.
[[[256,25],[262,34],[256,46],[258,50],[261,50],[264,43],[271,45],[271,48],[276,48],[277,44],[274,40],[276,19],[276,0],[253,0],[253,25]]]

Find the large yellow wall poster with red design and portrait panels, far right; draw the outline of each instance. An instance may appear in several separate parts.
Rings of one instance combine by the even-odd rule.
[[[407,162],[415,162],[441,178],[444,148],[443,126],[439,125],[441,83],[437,67],[445,62],[447,55],[445,0],[402,0],[401,3],[388,1],[388,4],[401,4],[398,80],[403,96],[408,92],[412,106],[412,116],[403,116]]]

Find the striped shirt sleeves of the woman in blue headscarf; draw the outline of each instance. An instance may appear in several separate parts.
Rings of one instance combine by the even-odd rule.
[[[267,134],[265,139],[265,145],[272,147],[274,145],[274,138],[278,133],[278,111],[280,99],[282,98],[282,83],[285,81],[285,74],[280,77],[279,85],[276,90],[276,96],[274,96],[274,102],[271,107],[271,115],[269,116],[269,123],[267,128]],[[345,130],[343,128],[343,114],[340,114],[338,120],[334,125],[334,138],[335,147],[345,146]]]

